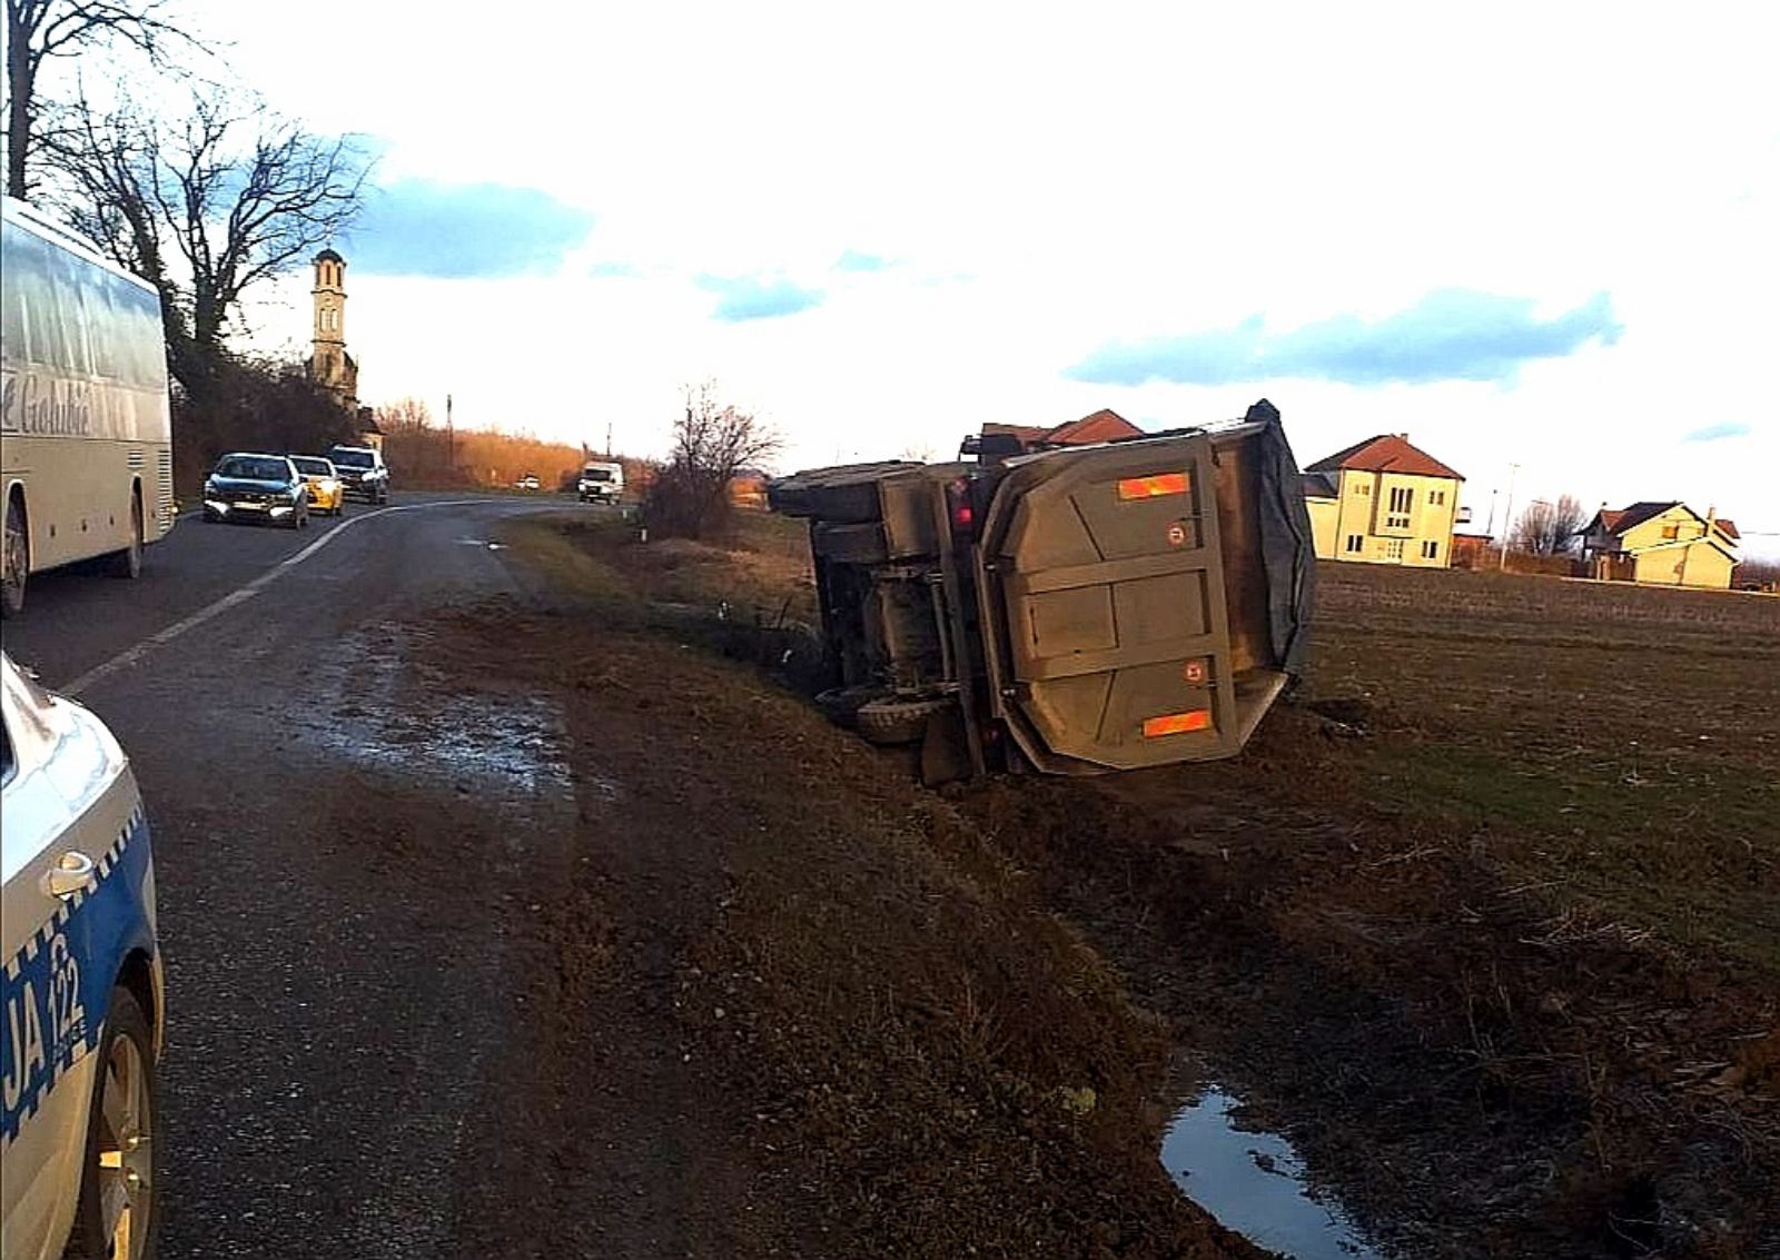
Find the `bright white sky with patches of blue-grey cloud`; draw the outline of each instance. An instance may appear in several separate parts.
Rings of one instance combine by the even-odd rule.
[[[796,468],[1267,397],[1305,464],[1408,434],[1479,527],[1682,498],[1780,555],[1755,4],[187,11],[377,153],[367,402],[648,456],[716,379]]]

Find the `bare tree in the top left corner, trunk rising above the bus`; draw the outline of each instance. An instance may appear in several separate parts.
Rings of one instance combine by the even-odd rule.
[[[7,196],[30,192],[30,158],[43,117],[37,77],[52,57],[125,44],[167,66],[198,41],[173,23],[169,0],[5,0]]]

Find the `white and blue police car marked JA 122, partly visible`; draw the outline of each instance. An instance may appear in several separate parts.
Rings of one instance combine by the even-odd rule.
[[[0,1260],[137,1260],[162,973],[130,762],[0,653]]]

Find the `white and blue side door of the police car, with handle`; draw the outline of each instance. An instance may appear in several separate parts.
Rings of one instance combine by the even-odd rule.
[[[4,1260],[36,1260],[61,1249],[85,1146],[96,1055],[80,1055],[78,965],[53,924],[57,893],[84,888],[91,861],[50,771],[55,746],[18,682],[0,666],[0,1242]]]

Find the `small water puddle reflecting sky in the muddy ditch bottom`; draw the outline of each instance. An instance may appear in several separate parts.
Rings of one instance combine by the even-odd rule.
[[[1292,1260],[1381,1260],[1335,1203],[1305,1189],[1305,1162],[1276,1134],[1250,1134],[1230,1114],[1239,1100],[1209,1087],[1162,1134],[1162,1166],[1175,1185],[1267,1251]]]

